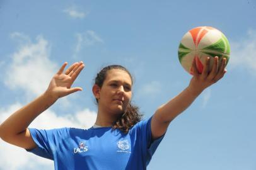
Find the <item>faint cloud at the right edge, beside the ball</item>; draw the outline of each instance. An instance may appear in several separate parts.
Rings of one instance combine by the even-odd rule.
[[[249,30],[247,36],[239,42],[231,42],[231,69],[242,67],[252,74],[256,71],[256,30]]]

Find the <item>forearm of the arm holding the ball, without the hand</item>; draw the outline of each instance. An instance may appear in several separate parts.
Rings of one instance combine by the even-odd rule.
[[[170,123],[176,116],[182,113],[182,111],[186,110],[201,92],[202,91],[193,91],[190,86],[185,88],[178,96],[175,96],[175,98],[168,101],[168,103],[158,108],[156,111],[158,120]]]

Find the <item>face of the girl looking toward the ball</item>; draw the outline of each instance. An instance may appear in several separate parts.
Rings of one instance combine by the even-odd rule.
[[[124,113],[132,98],[131,77],[123,70],[111,69],[98,90],[99,107],[114,115]]]

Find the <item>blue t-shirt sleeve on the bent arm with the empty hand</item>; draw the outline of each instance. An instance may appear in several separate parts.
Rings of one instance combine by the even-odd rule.
[[[52,130],[28,128],[28,130],[30,130],[30,135],[37,147],[31,150],[26,149],[26,151],[51,160],[54,160],[54,152],[59,145],[59,140],[65,137],[68,132],[67,128],[55,128]]]

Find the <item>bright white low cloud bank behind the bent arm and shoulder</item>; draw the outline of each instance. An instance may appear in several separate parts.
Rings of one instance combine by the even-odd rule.
[[[9,106],[8,108],[1,108],[0,110],[0,124],[21,108],[20,103]],[[50,129],[61,127],[76,127],[76,128],[90,128],[96,120],[96,113],[88,109],[78,111],[77,113],[57,116],[53,111],[47,110],[39,115],[29,127]],[[15,147],[7,144],[0,139],[0,169],[17,170],[17,169],[54,169],[53,162],[42,157],[35,156],[26,152],[25,149]]]

